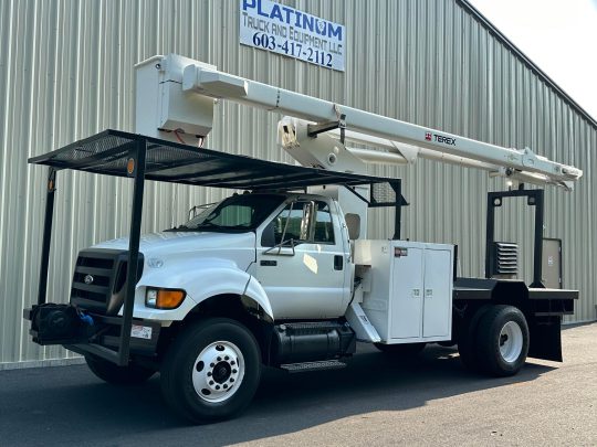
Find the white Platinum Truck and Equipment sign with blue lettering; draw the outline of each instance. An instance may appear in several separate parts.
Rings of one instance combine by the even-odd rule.
[[[344,72],[346,29],[270,0],[240,0],[240,43]]]

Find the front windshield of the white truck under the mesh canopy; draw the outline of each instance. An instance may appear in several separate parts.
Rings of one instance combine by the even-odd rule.
[[[216,203],[177,231],[255,230],[284,200],[276,194],[239,194]]]

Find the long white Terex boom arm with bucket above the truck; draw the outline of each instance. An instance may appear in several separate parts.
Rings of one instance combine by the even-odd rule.
[[[151,66],[151,63],[156,61],[158,63],[155,64],[155,67]],[[512,175],[515,180],[526,179],[532,182],[557,184],[566,189],[572,189],[573,182],[578,180],[583,174],[583,171],[575,167],[551,161],[545,157],[535,155],[528,148],[522,150],[504,148],[400,121],[219,72],[213,66],[177,55],[154,57],[138,64],[137,67],[139,68],[137,77],[137,131],[149,136],[156,136],[157,129],[170,130],[176,134],[178,129],[176,126],[178,124],[182,124],[179,127],[184,131],[197,134],[197,130],[201,130],[201,126],[191,128],[189,131],[185,127],[186,119],[189,123],[193,123],[193,115],[196,114],[211,116],[211,110],[209,113],[205,110],[205,105],[208,104],[205,99],[210,97],[233,100],[315,123],[337,121],[344,115],[346,128],[353,132],[352,135],[355,139],[358,139],[359,136],[362,140],[367,140],[367,137],[374,137],[368,139],[369,143],[383,146],[378,145],[379,141],[377,143],[375,142],[375,139],[381,139],[386,143],[394,145],[397,148],[395,152],[400,153],[407,161],[409,160],[408,156],[405,157],[405,152],[409,152],[407,150],[408,147],[402,147],[402,150],[400,150],[399,145],[415,147],[416,155],[427,156],[427,158],[474,166],[490,171],[494,170],[496,174]],[[178,96],[168,102],[164,100],[164,94],[157,94],[159,110],[154,113],[154,116],[160,115],[163,119],[157,125],[155,119],[145,119],[139,129],[139,95],[147,104],[149,89],[156,88],[156,85],[150,87],[145,82],[140,83],[139,79],[143,79],[144,73],[145,78],[150,77],[147,71],[155,71],[156,68],[158,72],[161,72],[156,75],[159,84],[166,84],[168,82],[175,84],[168,86],[168,88]],[[175,94],[170,93],[170,96]],[[192,111],[192,105],[178,104],[180,102],[193,100],[197,103],[199,98],[201,98],[201,110],[196,109]],[[179,116],[181,109],[184,110],[182,115],[188,114],[187,117]],[[166,119],[164,119],[165,115]],[[167,118],[174,115],[176,115],[176,119],[170,119],[170,123],[174,123],[175,127],[168,129],[163,124],[168,124]],[[210,128],[210,126],[207,127]],[[206,134],[199,132],[199,135],[205,136]],[[413,153],[412,149],[410,153]],[[447,156],[444,157],[442,155]],[[358,153],[356,156],[358,157]]]

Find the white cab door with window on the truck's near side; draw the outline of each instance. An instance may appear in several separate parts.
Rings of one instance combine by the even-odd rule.
[[[331,203],[289,203],[256,240],[255,277],[276,319],[327,318],[342,313],[349,294],[342,228]]]

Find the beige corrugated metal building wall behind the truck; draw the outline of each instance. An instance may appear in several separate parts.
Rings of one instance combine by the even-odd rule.
[[[564,240],[566,286],[582,290],[574,320],[596,318],[597,129],[455,1],[284,3],[346,24],[345,73],[239,45],[237,0],[0,2],[0,362],[65,355],[32,344],[21,318],[35,299],[45,183],[45,170],[29,167],[28,157],[108,127],[134,130],[133,65],[169,52],[420,125],[528,146],[584,169],[574,193],[546,192],[545,235]],[[217,115],[208,147],[290,161],[274,143],[277,116],[230,104],[220,104]],[[461,274],[483,274],[485,192],[501,181],[429,161],[376,172],[405,179],[406,237],[458,243]],[[78,249],[126,234],[129,187],[114,178],[59,175],[53,300],[67,299]],[[144,231],[171,226],[193,204],[222,193],[151,184]],[[388,236],[391,215],[376,213],[369,236]],[[512,240],[517,231],[528,241],[530,215],[512,206],[501,235]]]

